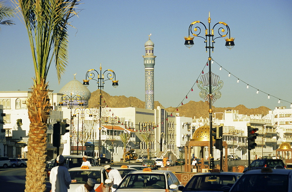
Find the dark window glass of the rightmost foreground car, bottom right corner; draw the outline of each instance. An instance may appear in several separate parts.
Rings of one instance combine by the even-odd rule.
[[[288,175],[243,175],[234,185],[232,191],[288,191]]]

